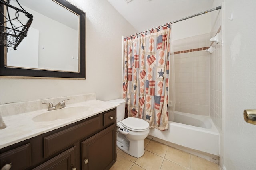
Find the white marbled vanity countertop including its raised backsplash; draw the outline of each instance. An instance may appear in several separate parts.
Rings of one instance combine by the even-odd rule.
[[[32,120],[34,117],[47,111],[48,104],[42,104],[42,102],[52,102],[53,104],[56,104],[68,98],[70,100],[66,101],[66,108],[63,109],[70,107],[86,107],[86,109],[82,111],[81,114],[74,117],[41,122]],[[1,104],[0,113],[2,115],[2,120],[7,127],[0,130],[0,148],[86,119],[98,113],[115,108],[116,106],[118,105],[96,100],[96,94],[94,93],[30,102]]]

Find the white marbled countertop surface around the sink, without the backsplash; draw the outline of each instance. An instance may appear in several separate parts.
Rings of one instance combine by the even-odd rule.
[[[65,125],[69,125],[71,123],[86,119],[98,113],[113,109],[118,106],[118,104],[113,104],[100,100],[88,100],[85,102],[67,105],[66,108],[77,106],[86,106],[86,108],[88,109],[82,111],[81,115],[78,115],[76,117],[57,119],[54,121],[35,122],[32,120],[33,117],[36,117],[46,112],[47,109],[2,117],[7,127],[0,130],[0,148],[7,147],[14,143],[24,141],[42,133],[58,129]]]

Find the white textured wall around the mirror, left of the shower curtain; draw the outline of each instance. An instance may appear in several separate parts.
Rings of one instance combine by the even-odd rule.
[[[86,80],[1,78],[1,104],[91,92],[98,100],[121,98],[121,37],[138,31],[108,1],[70,2],[86,12]]]

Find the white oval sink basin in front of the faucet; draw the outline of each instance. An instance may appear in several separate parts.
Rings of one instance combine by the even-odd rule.
[[[66,107],[63,109],[46,111],[36,117],[33,117],[32,120],[35,122],[41,121],[54,121],[58,119],[66,118],[76,118],[83,115],[86,111],[90,110],[90,107],[86,106],[77,106],[77,107]]]

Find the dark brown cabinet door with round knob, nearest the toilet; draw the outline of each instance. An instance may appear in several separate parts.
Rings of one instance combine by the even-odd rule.
[[[82,170],[108,170],[116,162],[116,124],[82,142]]]

